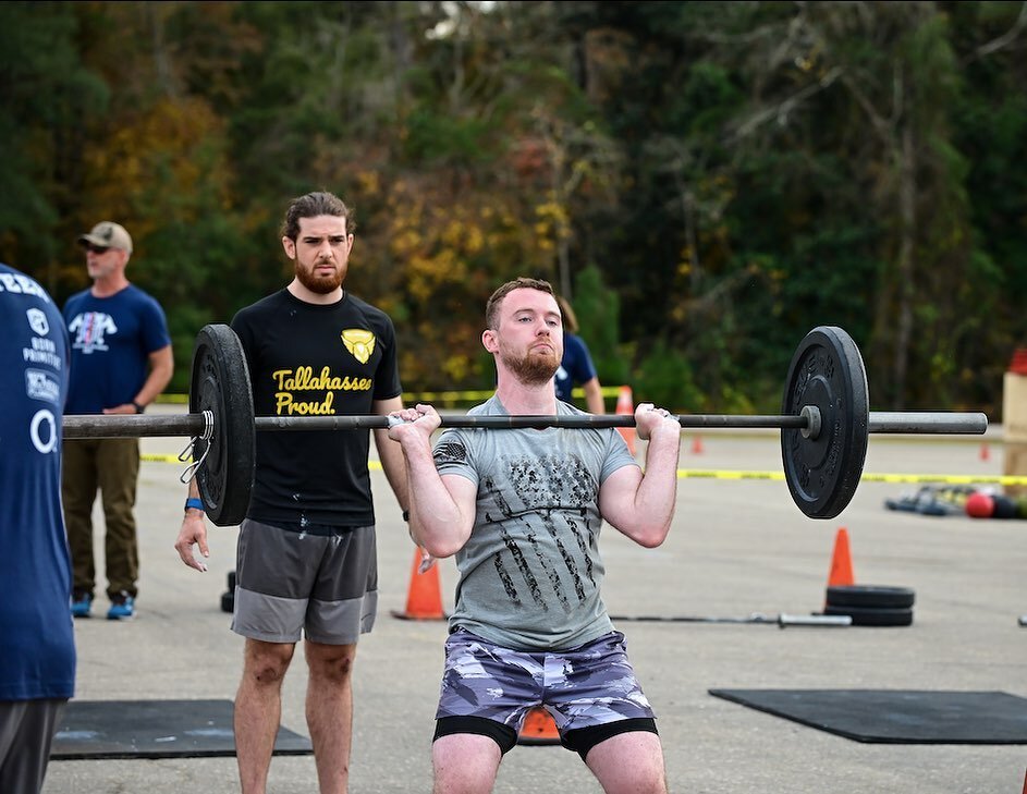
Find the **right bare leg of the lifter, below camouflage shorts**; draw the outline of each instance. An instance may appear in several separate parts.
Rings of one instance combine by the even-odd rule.
[[[648,731],[611,736],[585,759],[607,794],[667,794],[663,747]]]

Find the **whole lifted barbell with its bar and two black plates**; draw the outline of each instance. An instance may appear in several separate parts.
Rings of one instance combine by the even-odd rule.
[[[852,337],[818,326],[788,366],[781,415],[684,414],[682,428],[780,428],[785,481],[799,510],[833,518],[863,476],[868,435],[981,435],[988,417],[957,412],[871,412],[863,356]],[[207,516],[219,526],[242,522],[249,506],[256,431],[388,428],[388,416],[255,416],[246,356],[222,323],[200,329],[193,347],[189,413],[168,416],[69,415],[64,438],[186,436]],[[442,427],[477,429],[634,427],[631,415],[443,416]]]

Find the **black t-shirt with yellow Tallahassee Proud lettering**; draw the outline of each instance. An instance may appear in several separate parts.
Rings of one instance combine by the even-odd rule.
[[[232,320],[249,366],[257,416],[372,413],[402,392],[389,316],[346,293],[321,306],[288,290]],[[248,517],[286,527],[375,523],[370,430],[257,431]]]

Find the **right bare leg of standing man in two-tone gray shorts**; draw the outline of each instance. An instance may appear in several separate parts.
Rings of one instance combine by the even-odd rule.
[[[306,640],[307,728],[321,794],[346,794],[353,737],[353,660],[356,645]]]

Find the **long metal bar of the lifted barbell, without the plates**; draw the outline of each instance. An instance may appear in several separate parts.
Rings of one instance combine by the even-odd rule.
[[[812,407],[812,406],[810,406]],[[806,430],[816,408],[800,415],[682,414],[675,416],[682,428],[781,428]],[[635,427],[631,414],[574,414],[559,416],[442,416],[442,427],[517,429],[517,428],[606,428]],[[64,438],[139,438],[201,436],[208,427],[201,414],[136,415],[85,414],[64,417]],[[388,416],[257,416],[254,427],[271,430],[355,430],[387,429]],[[869,432],[879,433],[961,433],[981,435],[988,429],[988,417],[975,413],[902,413],[871,412]],[[821,431],[823,429],[821,428]],[[819,435],[819,433],[818,433]]]

